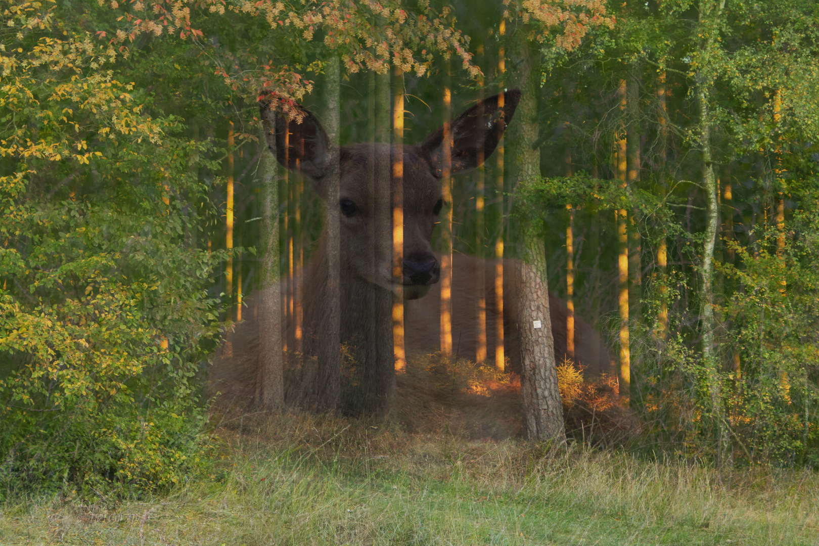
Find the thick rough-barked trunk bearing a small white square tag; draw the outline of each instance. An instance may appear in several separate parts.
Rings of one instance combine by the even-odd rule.
[[[521,91],[515,120],[508,130],[509,151],[513,155],[509,171],[511,182],[517,189],[540,175],[540,151],[534,147],[538,134],[537,83],[540,67],[536,63],[536,52],[530,47],[523,29],[518,29],[510,38],[509,61],[514,63],[514,70],[509,70],[508,85]],[[545,246],[540,233],[529,232],[530,226],[531,222],[523,222],[525,241],[518,288],[523,414],[529,438],[563,441],[563,404],[554,365]]]

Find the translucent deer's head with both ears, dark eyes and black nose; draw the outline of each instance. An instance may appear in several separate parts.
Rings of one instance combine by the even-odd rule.
[[[399,189],[404,211],[401,284],[405,299],[425,295],[438,282],[440,264],[430,241],[444,205],[441,177],[446,170],[463,174],[476,169],[495,150],[520,93],[514,89],[505,92],[504,98],[503,106],[498,95],[477,102],[448,127],[441,126],[423,142],[402,147],[375,143],[333,147],[310,111],[298,107],[301,122],[288,121],[270,109],[269,100],[262,100],[270,151],[281,165],[310,178],[328,206],[340,210],[342,283],[364,282],[392,289],[391,199]],[[445,153],[447,146],[450,154]],[[393,174],[398,160],[403,161],[402,177]],[[339,193],[329,196],[328,180],[334,176],[339,180]],[[314,259],[319,263],[322,249],[319,243]]]

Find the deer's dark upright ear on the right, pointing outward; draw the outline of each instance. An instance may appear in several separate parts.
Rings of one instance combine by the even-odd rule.
[[[481,166],[491,156],[512,120],[520,102],[520,91],[509,89],[475,106],[450,121],[452,164],[450,174],[465,173]],[[444,129],[441,126],[421,143],[421,152],[429,160],[432,174],[441,177],[444,170]]]

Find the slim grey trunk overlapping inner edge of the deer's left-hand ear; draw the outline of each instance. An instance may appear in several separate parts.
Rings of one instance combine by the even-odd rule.
[[[330,57],[325,68],[326,100],[324,104],[324,129],[331,142],[328,157],[329,170],[327,177],[327,214],[324,221],[325,245],[324,258],[327,259],[327,279],[323,287],[325,299],[319,317],[318,330],[318,392],[319,407],[334,411],[341,402],[341,284],[339,274],[341,261],[339,256],[339,165],[338,165],[338,108],[340,93],[340,62],[338,56]]]

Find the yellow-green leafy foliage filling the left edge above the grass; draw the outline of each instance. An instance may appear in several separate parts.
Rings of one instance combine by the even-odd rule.
[[[207,187],[190,166],[212,145],[149,115],[114,48],[52,7],[4,9],[2,489],[170,485],[207,440],[195,376],[222,253],[191,245]]]

